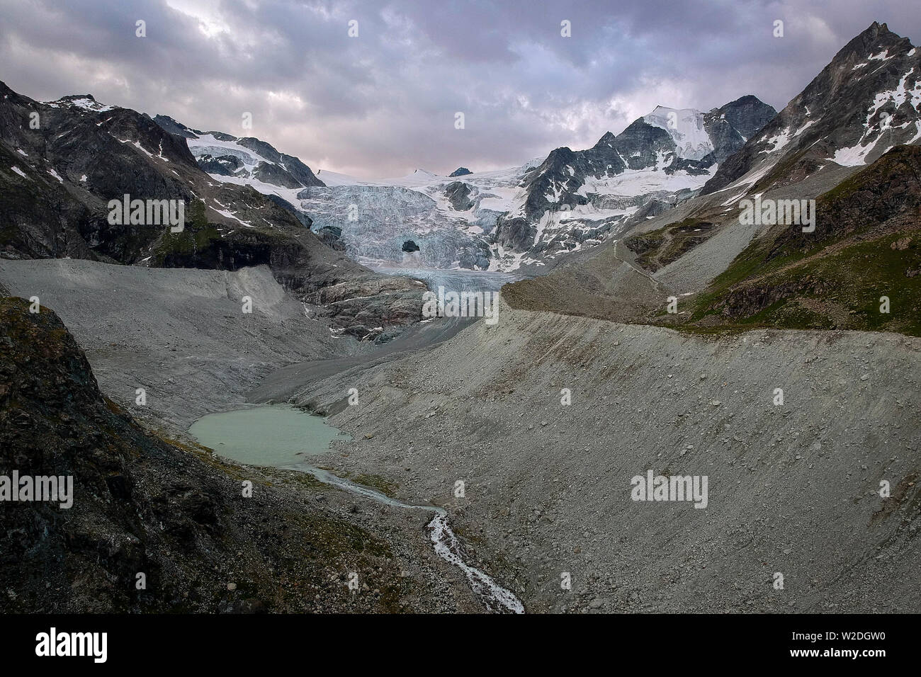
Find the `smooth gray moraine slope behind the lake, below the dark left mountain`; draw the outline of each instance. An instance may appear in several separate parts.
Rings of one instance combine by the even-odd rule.
[[[275,368],[360,346],[332,338],[329,321],[287,293],[266,266],[227,272],[4,261],[0,281],[55,309],[109,397],[176,430],[243,404],[240,393]],[[252,298],[249,314],[244,296]],[[135,405],[137,388],[146,389],[146,406]]]

